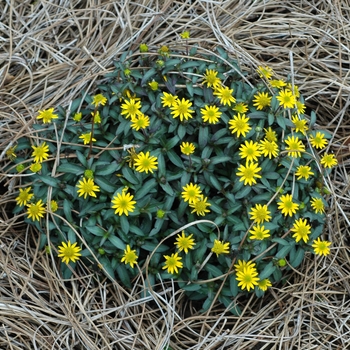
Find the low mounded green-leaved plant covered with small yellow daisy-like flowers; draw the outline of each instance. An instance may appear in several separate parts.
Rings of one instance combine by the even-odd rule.
[[[147,270],[203,310],[218,298],[239,313],[238,293],[262,296],[305,252],[329,253],[323,178],[337,161],[290,77],[221,48],[142,44],[106,78],[68,109],[39,111],[7,150],[15,213],[64,278],[79,260],[127,287]]]

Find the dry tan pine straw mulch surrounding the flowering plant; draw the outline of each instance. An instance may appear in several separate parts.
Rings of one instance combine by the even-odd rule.
[[[326,183],[324,236],[330,256],[308,255],[284,285],[262,299],[238,296],[240,317],[215,305],[201,314],[169,283],[142,297],[77,269],[64,282],[58,262],[37,249],[37,233],[11,214],[19,177],[0,170],[1,349],[344,349],[350,340],[349,18],[347,0],[78,1],[5,0],[0,4],[0,169],[7,147],[39,109],[68,106],[95,91],[113,60],[145,42],[221,45],[252,71],[268,64],[293,74],[334,133],[339,166]],[[169,349],[170,349],[169,347]]]

